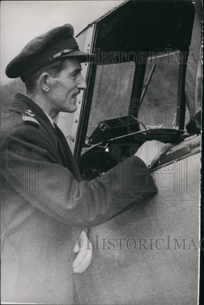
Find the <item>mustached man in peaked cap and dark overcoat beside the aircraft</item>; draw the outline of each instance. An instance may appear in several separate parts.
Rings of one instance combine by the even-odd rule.
[[[14,118],[12,128],[2,128],[2,301],[73,303],[73,272],[84,271],[91,259],[85,228],[132,204],[108,200],[117,195],[117,167],[82,181],[53,122],[60,111],[74,112],[76,96],[86,89],[80,65],[86,53],[73,35],[71,25],[57,27],[29,42],[6,68],[8,77],[25,82],[26,94],[16,94],[17,106],[2,116],[3,127]],[[146,185],[142,174],[144,162],[135,156],[133,166],[141,169],[133,186],[144,187],[134,195],[155,194],[153,180]],[[73,249],[79,251],[76,258]]]

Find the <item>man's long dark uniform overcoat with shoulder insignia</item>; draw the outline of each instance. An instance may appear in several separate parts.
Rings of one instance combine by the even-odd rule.
[[[31,99],[17,94],[15,100],[1,119],[1,300],[74,303],[73,248],[82,228],[132,201],[108,200],[118,194],[118,167],[82,181],[59,128]],[[126,199],[155,194],[143,161],[133,157],[133,167],[141,169],[133,177],[133,190],[140,191]]]

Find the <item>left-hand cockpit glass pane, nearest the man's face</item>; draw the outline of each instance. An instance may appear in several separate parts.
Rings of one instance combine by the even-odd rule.
[[[100,121],[128,115],[134,71],[134,63],[97,66],[87,136]]]

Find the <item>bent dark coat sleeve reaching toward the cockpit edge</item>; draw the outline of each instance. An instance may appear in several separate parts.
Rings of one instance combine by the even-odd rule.
[[[67,225],[100,224],[157,192],[138,157],[123,161],[99,179],[78,183],[67,168],[56,163],[46,135],[34,127],[23,135],[6,137],[2,149],[3,168],[9,170],[5,179],[16,189],[17,200]]]

